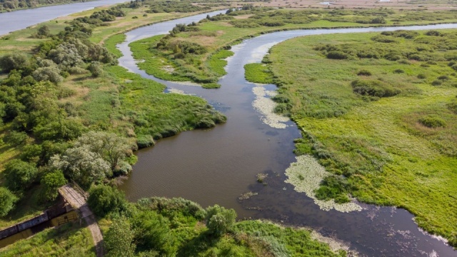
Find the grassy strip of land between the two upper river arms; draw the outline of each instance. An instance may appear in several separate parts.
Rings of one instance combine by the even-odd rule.
[[[228,15],[177,26],[171,36],[131,43],[139,66],[148,74],[171,81],[215,83],[225,74],[215,61],[221,49],[241,39],[271,31],[365,26],[400,26],[457,21],[455,12],[379,10],[277,10],[246,7]],[[184,25],[184,24],[182,24]],[[223,50],[225,51],[225,50]],[[158,61],[159,60],[159,61]]]

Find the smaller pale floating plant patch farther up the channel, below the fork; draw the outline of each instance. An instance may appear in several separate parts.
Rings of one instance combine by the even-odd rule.
[[[284,122],[287,122],[288,118],[274,113],[276,103],[269,97],[274,96],[276,92],[267,91],[263,86],[255,86],[252,91],[256,95],[252,106],[261,114],[262,122],[275,129],[286,129],[287,125]]]

